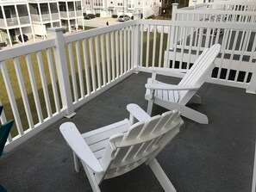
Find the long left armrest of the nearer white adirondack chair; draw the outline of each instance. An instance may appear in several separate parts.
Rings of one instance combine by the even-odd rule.
[[[98,162],[97,158],[91,152],[90,147],[84,141],[78,128],[72,122],[63,123],[59,127],[60,133],[62,133],[67,144],[72,148],[84,164],[88,165],[91,170],[95,172],[103,172],[103,166]]]

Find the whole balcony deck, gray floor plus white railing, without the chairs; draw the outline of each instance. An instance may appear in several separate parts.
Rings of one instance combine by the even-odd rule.
[[[6,92],[0,100],[16,120],[6,146],[13,150],[1,158],[1,184],[9,191],[91,191],[84,172],[72,168],[59,125],[74,121],[85,132],[127,118],[130,102],[146,109],[149,66],[189,69],[205,47],[219,42],[222,52],[209,78],[215,84],[204,84],[203,104],[191,106],[208,115],[209,125],[185,120],[159,163],[178,191],[250,191],[256,97],[246,90],[256,90],[255,31],[250,23],[135,20],[71,35],[53,28],[49,40],[1,51]],[[153,114],[164,110],[155,107]],[[63,117],[73,112],[71,120]],[[142,166],[106,181],[103,191],[162,191],[148,171]]]

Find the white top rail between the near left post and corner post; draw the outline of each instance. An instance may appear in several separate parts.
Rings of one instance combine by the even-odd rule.
[[[65,42],[69,43],[76,40],[83,40],[84,38],[90,38],[99,34],[106,34],[112,31],[120,30],[138,24],[138,20],[119,23],[117,25],[106,26],[104,28],[94,28],[88,31],[83,31],[77,34],[65,35]]]

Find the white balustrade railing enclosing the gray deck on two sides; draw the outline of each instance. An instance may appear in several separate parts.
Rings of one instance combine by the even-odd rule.
[[[6,121],[5,112],[11,111],[16,121],[7,148],[73,115],[75,108],[134,71],[188,69],[215,43],[222,44],[222,52],[209,81],[256,91],[253,24],[135,20],[70,35],[52,30],[50,40],[0,51],[0,81],[6,90],[4,98],[0,95],[5,108],[0,120]]]

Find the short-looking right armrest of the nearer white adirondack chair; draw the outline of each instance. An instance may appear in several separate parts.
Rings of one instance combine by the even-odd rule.
[[[130,113],[130,121],[134,123],[134,118],[138,121],[147,121],[150,119],[150,115],[148,115],[139,105],[131,103],[128,104],[127,110]]]

